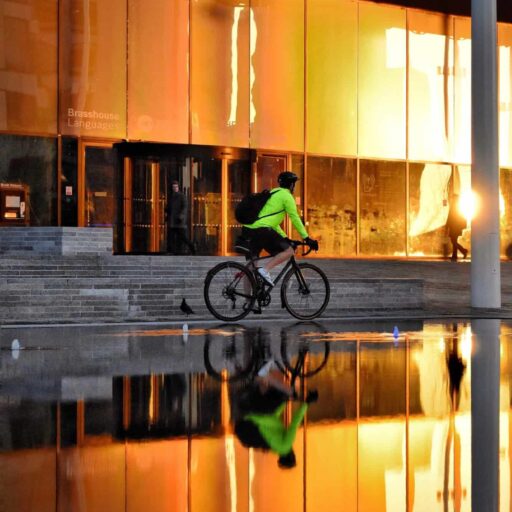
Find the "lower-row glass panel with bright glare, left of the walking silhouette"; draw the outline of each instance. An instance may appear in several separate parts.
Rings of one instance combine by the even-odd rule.
[[[446,256],[450,165],[409,164],[409,256]]]

